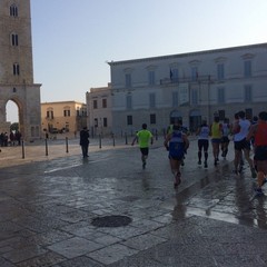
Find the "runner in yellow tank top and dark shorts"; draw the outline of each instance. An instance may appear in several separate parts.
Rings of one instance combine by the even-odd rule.
[[[214,165],[217,166],[219,161],[219,149],[222,137],[222,125],[219,122],[219,117],[215,116],[214,122],[210,127]]]

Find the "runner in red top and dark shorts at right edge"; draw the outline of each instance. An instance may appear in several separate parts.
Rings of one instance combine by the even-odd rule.
[[[267,181],[267,112],[261,111],[258,115],[258,122],[253,125],[246,140],[250,141],[254,137],[255,165],[257,166],[257,195],[264,195],[263,185]]]

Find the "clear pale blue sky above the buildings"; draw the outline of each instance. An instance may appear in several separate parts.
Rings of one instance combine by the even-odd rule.
[[[41,102],[86,101],[107,61],[267,42],[266,0],[31,0]]]

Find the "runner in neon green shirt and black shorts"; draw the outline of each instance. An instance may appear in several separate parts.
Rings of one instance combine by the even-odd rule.
[[[136,140],[138,140],[139,148],[141,151],[142,169],[146,169],[149,152],[149,141],[151,145],[154,144],[154,136],[151,131],[147,130],[147,123],[142,123],[142,129],[136,134],[136,137],[131,142],[131,146],[135,145]]]

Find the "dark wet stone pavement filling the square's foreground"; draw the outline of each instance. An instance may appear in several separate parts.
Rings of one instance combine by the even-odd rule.
[[[137,146],[97,144],[1,167],[0,267],[267,266],[267,199],[231,174],[233,142],[205,169],[191,140],[178,190],[161,145],[145,170]]]

